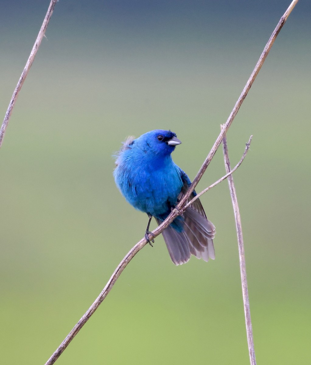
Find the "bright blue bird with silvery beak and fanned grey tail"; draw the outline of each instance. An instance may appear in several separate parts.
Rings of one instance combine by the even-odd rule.
[[[191,184],[187,174],[172,160],[171,153],[180,143],[175,133],[154,130],[136,139],[128,137],[117,154],[116,185],[128,203],[147,213],[147,241],[151,218],[161,224]],[[193,191],[190,199],[195,195]],[[162,234],[175,265],[189,261],[191,255],[204,261],[215,258],[215,227],[206,218],[199,199],[182,216],[175,218]]]

